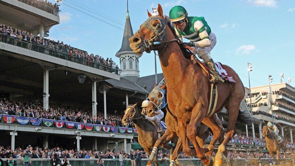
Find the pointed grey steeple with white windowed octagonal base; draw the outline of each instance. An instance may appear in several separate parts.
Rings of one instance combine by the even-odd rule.
[[[120,68],[122,70],[121,76],[135,82],[139,78],[139,57],[130,48],[129,38],[133,36],[133,30],[131,27],[129,10],[128,10],[128,0],[127,0],[127,16],[123,34],[123,40],[120,50],[116,53],[116,57],[120,58]]]

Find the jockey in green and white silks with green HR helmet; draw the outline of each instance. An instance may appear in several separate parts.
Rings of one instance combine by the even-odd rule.
[[[209,55],[216,44],[216,36],[211,32],[204,17],[188,17],[182,6],[174,6],[169,12],[169,17],[179,39],[182,41],[182,37],[184,37],[190,40],[189,43],[181,43],[181,45],[193,47],[197,51],[198,57],[203,59],[206,66],[212,71],[211,83],[224,82]]]

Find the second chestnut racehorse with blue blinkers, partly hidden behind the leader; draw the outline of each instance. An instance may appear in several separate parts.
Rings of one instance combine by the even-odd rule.
[[[163,102],[165,102],[165,99],[167,98],[167,88],[166,88],[166,84],[161,85],[161,86],[157,86],[155,85],[155,88],[151,91],[151,93],[149,94],[149,99],[150,99],[150,103],[148,104],[147,110],[157,110],[160,109],[161,105],[163,104]],[[169,105],[166,104],[166,106],[164,108],[166,108],[167,110],[167,115],[166,116],[170,116],[170,109],[168,108]],[[173,116],[175,117],[175,116]],[[175,117],[175,120],[170,120],[167,121],[166,120],[166,126],[167,126],[167,131],[165,132],[165,134],[159,138],[153,148],[153,151],[150,155],[150,160],[152,161],[154,158],[154,156],[157,156],[156,152],[157,152],[157,147],[161,144],[163,144],[163,142],[169,142],[171,138],[173,137],[177,137],[177,131],[178,131],[178,126],[177,126],[177,118]],[[217,114],[215,113],[212,117],[208,117],[208,118],[204,118],[203,119],[203,124],[201,124],[199,126],[198,132],[197,132],[197,142],[200,145],[200,147],[206,148],[204,149],[205,151],[209,151],[207,153],[207,155],[211,156],[212,155],[212,150],[214,149],[214,144],[216,143],[217,139],[219,139],[219,142],[223,142],[224,138],[224,130],[222,127],[222,123],[220,121],[220,119],[218,118]],[[217,126],[215,126],[215,124],[212,124],[212,122],[216,123]],[[210,126],[214,126],[214,129],[211,129],[211,132],[213,133],[213,138],[210,142],[210,146],[209,145],[205,145],[205,140],[208,137],[208,132],[209,132],[209,127]],[[203,133],[208,133],[208,134],[203,134]],[[201,137],[201,138],[200,138]],[[178,140],[180,141],[180,140]],[[182,145],[183,146],[183,151],[187,154],[187,155],[195,155],[196,151],[192,151],[190,149],[189,144],[187,145]],[[175,149],[174,151],[180,151],[181,149]]]

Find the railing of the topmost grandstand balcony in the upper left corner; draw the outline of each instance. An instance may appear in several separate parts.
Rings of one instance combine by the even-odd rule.
[[[46,12],[48,12],[50,14],[59,16],[59,11],[60,10],[58,8],[55,8],[53,6],[48,5],[45,2],[40,2],[40,1],[37,1],[37,0],[18,0],[18,1],[23,2],[25,4],[28,4],[30,6],[33,6],[35,8],[38,8],[40,10],[46,11]]]

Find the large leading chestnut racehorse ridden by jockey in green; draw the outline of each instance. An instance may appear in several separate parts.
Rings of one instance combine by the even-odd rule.
[[[130,47],[137,54],[142,54],[144,51],[150,52],[150,50],[158,51],[167,84],[167,101],[171,113],[177,117],[179,137],[184,145],[187,138],[191,140],[197,156],[203,164],[212,164],[212,158],[205,156],[196,140],[197,127],[207,116],[209,107],[209,76],[201,66],[193,64],[190,59],[184,57],[174,28],[170,20],[164,17],[160,4],[157,11],[158,15],[155,16],[148,13],[147,21],[141,24],[139,31],[134,36],[129,38]],[[225,107],[229,114],[229,125],[225,139],[219,145],[214,165],[222,164],[222,152],[225,151],[225,146],[235,133],[235,123],[238,116],[242,116],[239,114],[239,108],[245,96],[245,89],[238,74],[226,65],[224,68],[232,75],[236,83],[217,83],[219,95],[215,112],[220,112]],[[149,116],[154,114],[152,110],[147,113]],[[243,119],[243,117],[239,119]],[[175,151],[172,157],[177,157]],[[173,165],[173,163],[171,164]]]

